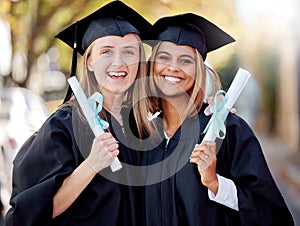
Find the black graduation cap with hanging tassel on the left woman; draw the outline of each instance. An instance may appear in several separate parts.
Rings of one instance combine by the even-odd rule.
[[[113,1],[70,25],[55,37],[73,48],[70,76],[75,76],[77,52],[83,55],[96,39],[110,35],[123,37],[129,33],[135,33],[143,39],[150,27],[151,24],[135,10],[121,1]],[[64,103],[71,95],[69,87]]]

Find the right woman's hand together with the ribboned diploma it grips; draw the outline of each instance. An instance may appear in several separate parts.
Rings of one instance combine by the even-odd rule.
[[[216,173],[216,138],[224,139],[226,135],[225,120],[244,89],[250,73],[244,69],[239,69],[224,99],[219,103],[218,95],[225,93],[220,90],[215,95],[214,105],[210,111],[212,117],[208,122],[204,132],[206,132],[201,144],[196,144],[190,156],[190,162],[197,164],[201,175],[201,182],[215,195],[218,192],[219,181]]]

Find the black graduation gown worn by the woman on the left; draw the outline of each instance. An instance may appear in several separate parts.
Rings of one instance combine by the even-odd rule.
[[[113,173],[110,167],[97,174],[64,213],[52,219],[55,193],[88,155],[94,138],[74,112],[71,107],[59,109],[17,154],[7,226],[134,224],[128,186],[118,183],[126,180],[126,172],[122,168]],[[108,121],[114,125],[110,132],[120,141],[120,161],[132,162],[123,128],[109,114]]]

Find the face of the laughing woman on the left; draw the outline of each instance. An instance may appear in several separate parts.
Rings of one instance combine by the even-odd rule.
[[[133,84],[138,72],[140,48],[139,37],[127,34],[124,37],[103,37],[87,49],[90,52],[86,59],[88,71],[94,74],[103,95],[124,95]],[[109,100],[111,97],[104,100],[104,107],[112,109],[113,103]]]

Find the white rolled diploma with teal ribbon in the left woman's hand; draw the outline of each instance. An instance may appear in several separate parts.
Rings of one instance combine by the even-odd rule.
[[[103,128],[107,128],[108,124],[107,122],[105,122],[104,120],[101,120],[98,116],[98,114],[95,114],[95,111],[98,112],[100,111],[102,108],[102,106],[98,106],[98,109],[96,107],[96,105],[94,105],[94,111],[91,108],[91,106],[89,105],[89,101],[99,101],[99,98],[102,98],[102,96],[94,94],[91,99],[87,99],[83,90],[81,89],[79,82],[77,80],[76,77],[71,77],[68,79],[68,82],[73,90],[73,93],[83,111],[83,114],[85,116],[85,118],[88,121],[88,124],[90,126],[90,128],[92,129],[95,137],[100,136],[101,134],[104,133]],[[102,101],[102,100],[101,100]],[[101,102],[102,103],[102,102]],[[113,172],[119,170],[122,168],[122,165],[118,159],[118,157],[115,157],[114,160],[112,161],[110,168]]]

